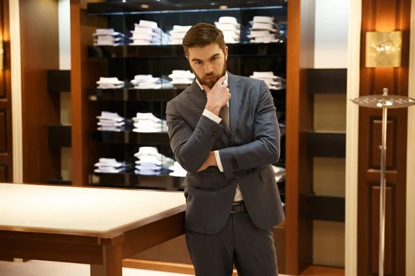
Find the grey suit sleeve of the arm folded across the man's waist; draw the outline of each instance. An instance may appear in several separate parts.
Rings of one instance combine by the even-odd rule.
[[[219,150],[226,178],[234,177],[243,170],[273,164],[279,159],[279,124],[273,97],[264,81],[261,81],[255,112],[253,140],[246,145]]]

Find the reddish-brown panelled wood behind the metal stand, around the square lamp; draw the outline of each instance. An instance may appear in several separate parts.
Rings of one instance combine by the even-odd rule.
[[[360,96],[408,95],[411,0],[363,0]],[[366,68],[368,31],[403,31],[400,68]],[[360,108],[358,164],[358,275],[378,273],[382,110]],[[388,111],[385,275],[405,275],[407,109]]]

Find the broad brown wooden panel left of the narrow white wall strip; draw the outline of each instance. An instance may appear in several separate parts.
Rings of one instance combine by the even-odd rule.
[[[60,152],[48,146],[48,125],[59,124],[59,94],[48,92],[48,70],[59,69],[58,3],[19,0],[23,181],[60,176]]]

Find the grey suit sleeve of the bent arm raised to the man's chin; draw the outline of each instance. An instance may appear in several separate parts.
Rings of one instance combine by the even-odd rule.
[[[170,147],[176,161],[187,172],[197,172],[208,158],[223,126],[202,115],[193,130],[171,101],[167,103],[166,117]]]

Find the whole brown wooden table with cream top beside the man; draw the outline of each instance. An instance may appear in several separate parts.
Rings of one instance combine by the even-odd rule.
[[[183,192],[0,184],[0,257],[90,264],[122,275],[122,259],[184,234]]]

